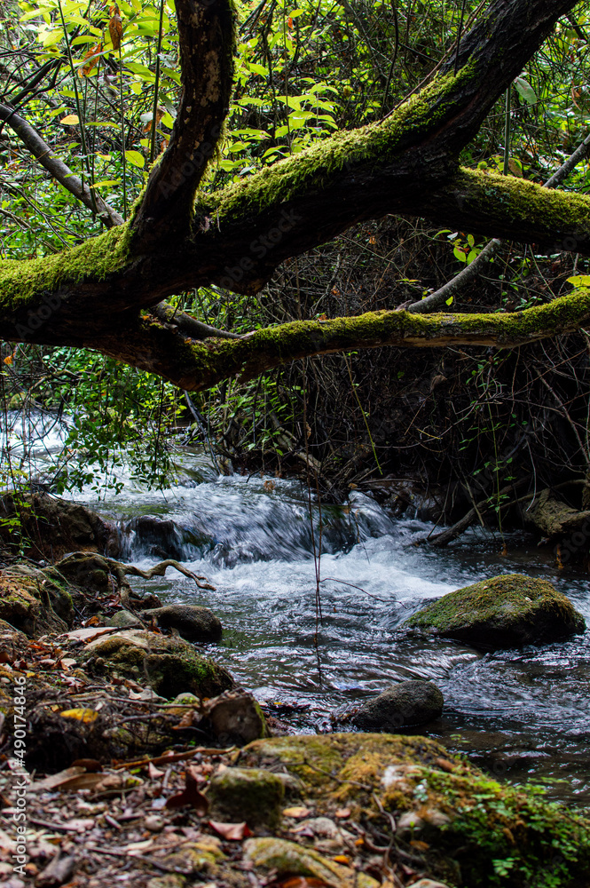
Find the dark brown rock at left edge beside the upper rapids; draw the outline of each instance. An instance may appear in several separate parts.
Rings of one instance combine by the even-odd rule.
[[[0,496],[0,518],[17,518],[17,534],[5,523],[0,536],[7,545],[20,545],[21,536],[34,543],[35,559],[39,552],[48,561],[61,558],[68,551],[79,549],[118,553],[118,535],[112,524],[80,503],[68,503],[46,493],[6,493]]]

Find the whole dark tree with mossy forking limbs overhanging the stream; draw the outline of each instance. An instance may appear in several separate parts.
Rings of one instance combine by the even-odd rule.
[[[303,327],[287,325],[280,336],[261,331],[255,338],[212,345],[193,342],[186,325],[184,339],[178,329],[139,312],[212,283],[254,292],[284,258],[326,242],[359,219],[388,212],[429,215],[517,240],[559,242],[559,249],[590,254],[589,198],[548,193],[457,165],[460,148],[574,5],[492,0],[460,45],[459,75],[443,71],[382,122],[340,132],[194,204],[229,105],[232,9],[231,0],[177,0],[183,97],[170,145],[134,217],[75,250],[0,262],[2,336],[97,348],[196,389],[223,375],[248,376],[307,354],[451,342],[507,347],[548,335],[543,319],[557,302],[539,316],[493,315],[485,322],[437,316],[435,327],[415,327],[427,319],[410,323],[414,316],[405,313],[340,319],[328,327],[303,321]],[[559,305],[552,333],[573,329],[572,318],[576,324],[586,321],[578,297],[571,311],[567,301]]]

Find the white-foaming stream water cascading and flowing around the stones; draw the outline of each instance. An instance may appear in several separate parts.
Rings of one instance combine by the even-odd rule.
[[[471,531],[429,550],[412,544],[429,524],[392,519],[368,496],[320,507],[299,482],[217,477],[191,448],[178,454],[177,484],[163,494],[127,479],[116,496],[86,490],[78,498],[118,522],[124,559],[182,559],[208,576],[216,591],[172,570],[165,580],[135,582],[166,602],[210,607],[224,638],[205,646],[208,653],[298,730],[338,729],[367,696],[399,679],[428,678],[445,708],[423,733],[497,777],[534,777],[551,796],[590,805],[590,630],[483,655],[403,628],[423,602],[511,572],[555,583],[590,626],[587,575],[556,570],[551,548],[508,535],[501,556],[498,537]]]

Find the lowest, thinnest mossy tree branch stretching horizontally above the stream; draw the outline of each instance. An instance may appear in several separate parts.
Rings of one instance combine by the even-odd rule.
[[[187,391],[200,392],[223,379],[248,381],[280,365],[317,354],[397,345],[442,348],[488,345],[515,348],[568,333],[590,321],[590,290],[580,289],[547,305],[506,314],[411,314],[369,312],[331,321],[295,321],[257,330],[240,339],[197,342],[151,318],[138,318],[93,348],[156,373]]]

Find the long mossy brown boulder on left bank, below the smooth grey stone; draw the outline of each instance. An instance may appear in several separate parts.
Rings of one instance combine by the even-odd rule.
[[[233,686],[227,670],[198,654],[182,638],[142,630],[114,632],[91,641],[83,660],[96,671],[116,670],[152,687],[162,697],[188,691],[214,697]]]

